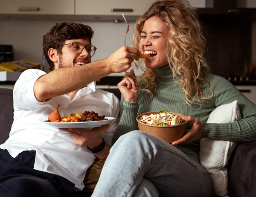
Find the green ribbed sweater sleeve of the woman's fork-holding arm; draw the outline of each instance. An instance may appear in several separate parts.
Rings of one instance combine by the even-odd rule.
[[[120,116],[116,132],[112,139],[112,144],[125,133],[131,130],[138,130],[138,123],[136,121],[139,102],[129,103],[125,101],[123,96],[120,101]]]

